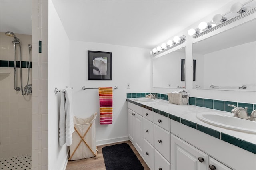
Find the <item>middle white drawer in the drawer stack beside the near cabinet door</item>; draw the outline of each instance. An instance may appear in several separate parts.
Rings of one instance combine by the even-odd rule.
[[[168,162],[171,162],[170,156],[170,132],[164,130],[158,125],[154,125],[154,146]]]

